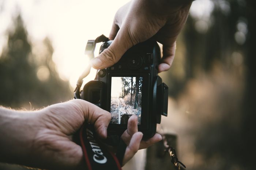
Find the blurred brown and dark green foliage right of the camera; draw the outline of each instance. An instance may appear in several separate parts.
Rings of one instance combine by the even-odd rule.
[[[190,11],[173,66],[161,73],[172,97],[163,128],[177,133],[178,156],[189,170],[252,170],[256,5],[249,0],[208,5],[206,14]]]

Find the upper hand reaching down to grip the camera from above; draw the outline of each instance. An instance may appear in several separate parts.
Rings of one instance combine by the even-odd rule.
[[[188,17],[192,0],[132,0],[118,9],[109,35],[112,44],[91,60],[102,69],[117,63],[132,46],[151,37],[163,44],[158,72],[172,65],[176,39]]]

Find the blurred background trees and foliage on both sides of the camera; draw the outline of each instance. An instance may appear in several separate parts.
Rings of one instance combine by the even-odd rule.
[[[169,116],[161,125],[178,135],[178,157],[188,170],[252,170],[256,5],[251,0],[193,3],[202,1],[208,7],[191,10],[173,66],[160,74],[170,96]],[[52,61],[51,40],[31,44],[20,15],[12,26],[0,56],[0,104],[30,109],[71,99],[70,85]]]

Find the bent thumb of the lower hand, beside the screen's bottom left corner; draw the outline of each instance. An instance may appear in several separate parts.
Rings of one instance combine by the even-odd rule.
[[[98,106],[81,99],[70,100],[82,110],[84,121],[94,124],[94,128],[100,137],[107,137],[107,128],[111,120],[111,114]]]

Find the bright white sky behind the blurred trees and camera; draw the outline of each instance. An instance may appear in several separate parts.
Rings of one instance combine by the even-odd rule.
[[[46,36],[52,40],[57,71],[62,79],[69,80],[71,86],[75,87],[79,75],[89,65],[89,59],[84,55],[87,40],[101,34],[108,36],[117,9],[127,2],[0,0],[0,54],[7,42],[6,31],[11,29],[12,18],[20,12],[32,43],[42,41]],[[191,15],[206,16],[212,6],[210,0],[196,0],[191,7]],[[96,52],[98,48],[95,55]],[[91,70],[84,83],[94,79],[95,73],[96,70]]]

